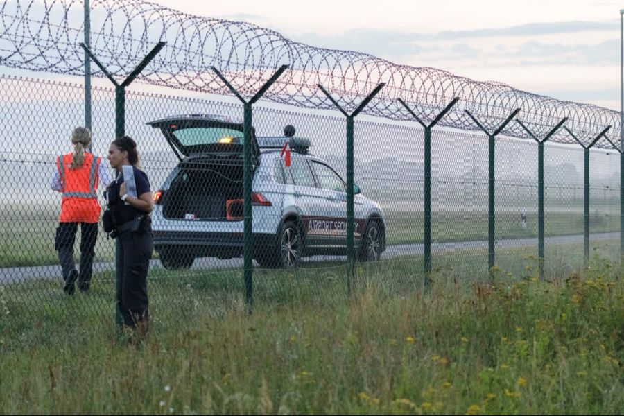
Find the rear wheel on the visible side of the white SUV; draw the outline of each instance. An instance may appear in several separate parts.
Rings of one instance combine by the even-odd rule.
[[[293,221],[284,221],[277,234],[277,244],[261,252],[256,261],[264,268],[296,268],[301,260],[302,243],[300,227]]]

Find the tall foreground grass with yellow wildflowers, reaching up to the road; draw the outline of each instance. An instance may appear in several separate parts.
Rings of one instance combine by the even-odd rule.
[[[1,413],[613,414],[624,408],[624,284],[596,246],[534,258],[483,250],[254,273],[150,272],[150,334],[115,336],[112,275],[0,286]],[[554,253],[553,253],[554,257]],[[517,259],[521,259],[517,261]],[[506,264],[507,267],[502,265]]]

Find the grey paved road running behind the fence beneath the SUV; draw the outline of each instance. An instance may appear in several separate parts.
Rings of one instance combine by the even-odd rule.
[[[590,234],[590,241],[602,241],[619,239],[620,233],[610,232],[603,234]],[[569,244],[569,243],[582,243],[583,235],[577,234],[572,236],[555,236],[547,237],[544,239],[545,245],[557,245],[557,244]],[[497,248],[520,248],[534,246],[537,250],[537,237],[530,239],[507,239],[496,241]],[[454,243],[433,243],[431,245],[432,253],[453,252],[458,250],[469,250],[474,248],[487,249],[487,240],[481,241],[458,241]],[[394,257],[410,257],[418,256],[424,253],[424,245],[422,244],[400,244],[389,245],[383,253],[383,259],[392,259]],[[324,261],[324,260],[340,260],[345,257],[329,257],[329,256],[317,256],[305,259],[305,261]],[[102,262],[94,264],[94,271],[103,272],[107,270],[114,270],[114,262]],[[196,259],[193,263],[192,270],[211,270],[222,268],[238,268],[243,266],[243,259],[229,259],[220,260],[213,257],[204,257],[202,259]],[[151,260],[150,267],[162,268],[159,260]],[[61,268],[58,265],[55,266],[31,266],[31,267],[13,267],[13,268],[0,268],[0,284],[15,283],[18,281],[24,281],[27,279],[60,279]]]

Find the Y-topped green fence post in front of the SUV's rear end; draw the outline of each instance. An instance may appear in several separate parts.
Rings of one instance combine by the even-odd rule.
[[[252,312],[252,304],[254,301],[254,268],[252,263],[254,257],[254,238],[252,234],[252,181],[254,171],[254,166],[252,166],[252,105],[264,95],[266,90],[275,83],[277,78],[279,78],[287,68],[288,65],[279,67],[261,89],[259,89],[249,101],[246,101],[218,69],[211,67],[220,80],[222,80],[236,98],[239,98],[241,103],[243,103],[243,291],[248,313]]]

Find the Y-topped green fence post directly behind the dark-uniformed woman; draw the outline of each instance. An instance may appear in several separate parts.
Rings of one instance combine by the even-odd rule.
[[[137,67],[125,78],[123,83],[118,83],[106,70],[103,64],[95,57],[89,47],[83,43],[80,46],[85,50],[85,55],[88,55],[93,62],[98,66],[104,75],[115,86],[115,135],[116,137],[122,137],[125,135],[125,87],[128,87],[137,76],[147,67],[151,60],[159,53],[159,51],[165,46],[166,42],[158,42],[156,46],[146,55],[145,58],[137,65]],[[115,293],[121,292],[121,278],[123,276],[123,270],[121,270],[121,245],[119,245],[119,239],[115,240]],[[117,329],[121,329],[123,322],[121,320],[121,307],[116,301],[118,297],[115,295],[115,324]]]

